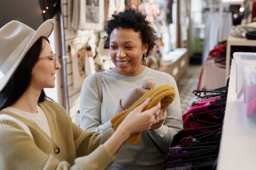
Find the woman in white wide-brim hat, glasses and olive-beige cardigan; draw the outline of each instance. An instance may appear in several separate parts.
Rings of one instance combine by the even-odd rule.
[[[0,29],[0,169],[103,170],[135,132],[159,121],[160,103],[146,110],[148,98],[114,132],[83,131],[43,88],[55,86],[56,61],[47,38],[54,20],[36,31],[11,21]]]

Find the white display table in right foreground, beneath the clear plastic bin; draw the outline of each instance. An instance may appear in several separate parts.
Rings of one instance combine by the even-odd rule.
[[[245,103],[236,99],[236,63],[232,60],[217,170],[256,169],[256,124],[250,125]]]

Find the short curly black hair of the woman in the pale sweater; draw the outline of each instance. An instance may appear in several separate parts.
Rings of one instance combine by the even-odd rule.
[[[139,32],[142,43],[148,44],[147,55],[153,51],[157,34],[155,29],[151,26],[151,22],[146,19],[146,15],[141,11],[126,9],[118,14],[113,14],[110,20],[105,21],[104,31],[106,31],[107,35],[104,38],[106,39],[106,46],[109,47],[110,34],[113,29],[117,27],[133,29]]]

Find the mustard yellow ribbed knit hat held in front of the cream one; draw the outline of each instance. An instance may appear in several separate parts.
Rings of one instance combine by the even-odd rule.
[[[144,110],[152,108],[159,101],[161,101],[161,108],[164,108],[173,102],[173,99],[175,97],[175,89],[173,88],[173,86],[165,84],[155,87],[150,91],[146,92],[141,98],[139,98],[137,102],[132,104],[132,106],[130,106],[128,109],[112,117],[112,119],[110,120],[112,123],[112,128],[116,130],[119,124],[124,120],[126,115],[128,115],[128,113],[130,113],[134,108],[143,103],[148,97],[150,97],[151,101]],[[137,132],[130,135],[130,137],[126,141],[134,145],[137,144],[139,138],[141,137],[141,133],[142,132]]]

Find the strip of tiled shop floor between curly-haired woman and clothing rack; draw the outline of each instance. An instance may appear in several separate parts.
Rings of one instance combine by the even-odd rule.
[[[186,73],[177,82],[182,114],[186,113],[189,109],[189,101],[195,97],[193,91],[197,89],[201,69],[200,64],[190,64]]]

